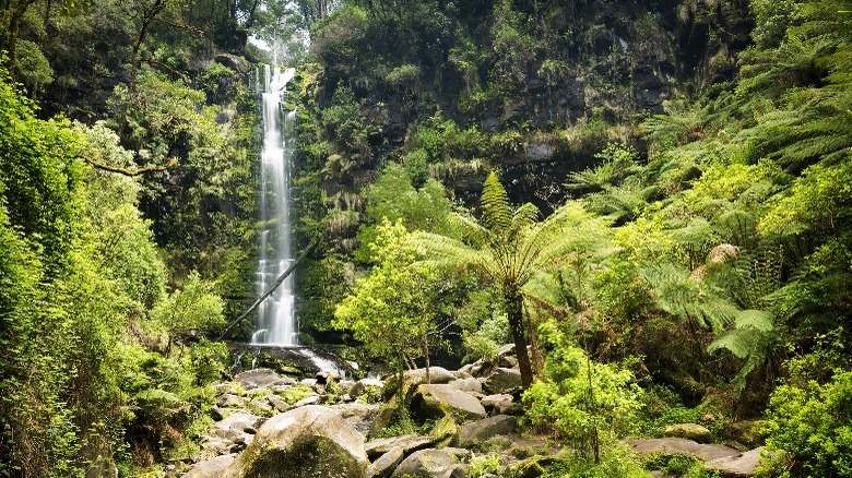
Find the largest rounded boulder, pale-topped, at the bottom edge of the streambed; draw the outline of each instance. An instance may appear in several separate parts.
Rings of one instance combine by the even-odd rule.
[[[362,478],[364,435],[335,411],[308,405],[269,419],[225,477]]]

